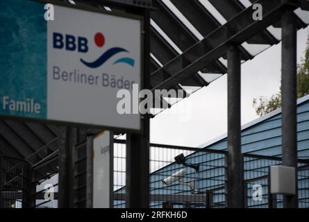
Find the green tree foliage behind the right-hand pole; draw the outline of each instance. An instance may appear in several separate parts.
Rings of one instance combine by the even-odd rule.
[[[307,94],[309,94],[309,38],[304,58],[302,58],[301,64],[297,67],[297,99]],[[260,117],[281,108],[281,89],[269,99],[264,96],[253,99],[253,107],[256,109],[256,114],[260,115]]]

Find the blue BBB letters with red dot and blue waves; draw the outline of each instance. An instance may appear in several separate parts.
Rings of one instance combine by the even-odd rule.
[[[101,48],[105,44],[105,37],[102,33],[94,35],[94,43],[97,47]],[[87,53],[89,51],[88,40],[86,37],[74,35],[62,35],[61,33],[53,33],[53,48],[54,49],[65,49],[67,51],[77,51],[78,53]],[[87,62],[81,58],[83,65],[90,68],[97,68],[103,65],[107,60],[112,58],[118,53],[128,53],[128,50],[121,47],[112,47],[105,51],[97,60]],[[113,65],[118,63],[126,63],[131,67],[134,67],[133,58],[122,57],[113,62]]]

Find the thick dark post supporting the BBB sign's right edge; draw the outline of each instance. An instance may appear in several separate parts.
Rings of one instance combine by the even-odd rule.
[[[150,87],[150,10],[144,12],[144,89]],[[126,207],[149,207],[149,115],[142,134],[126,135]]]

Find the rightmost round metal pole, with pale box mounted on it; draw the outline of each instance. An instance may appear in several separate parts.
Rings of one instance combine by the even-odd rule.
[[[282,164],[297,172],[297,28],[292,10],[283,12],[281,26]],[[284,195],[283,207],[297,207],[297,195]]]

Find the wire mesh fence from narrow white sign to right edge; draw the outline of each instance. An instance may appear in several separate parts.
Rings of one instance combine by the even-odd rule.
[[[227,152],[151,144],[150,207],[227,207]],[[199,170],[177,164],[174,157],[183,153],[187,163]],[[245,207],[282,207],[281,195],[269,194],[269,167],[280,165],[281,157],[244,153]],[[162,182],[174,173],[185,175],[167,185]],[[126,144],[114,144],[114,207],[125,207]],[[299,160],[299,207],[309,207],[309,161]],[[259,188],[260,187],[260,188]],[[256,192],[258,191],[258,193]]]

